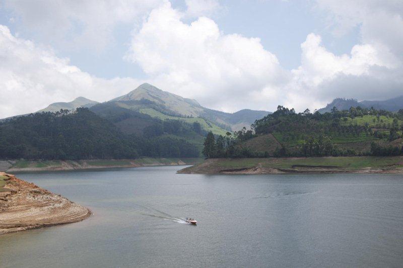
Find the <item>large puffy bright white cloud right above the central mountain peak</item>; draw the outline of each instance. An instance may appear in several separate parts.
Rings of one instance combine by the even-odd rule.
[[[284,71],[258,38],[223,34],[200,17],[190,24],[169,2],[153,10],[133,35],[126,59],[138,63],[161,88],[226,111],[263,108],[272,100],[245,103],[255,91],[277,88]]]

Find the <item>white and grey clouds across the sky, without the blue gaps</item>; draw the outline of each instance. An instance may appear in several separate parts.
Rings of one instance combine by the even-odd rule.
[[[327,15],[334,34],[358,27],[361,40],[350,53],[336,55],[323,46],[319,35],[310,33],[301,44],[300,66],[292,70],[283,68],[259,38],[224,33],[214,20],[204,17],[222,8],[214,0],[188,0],[183,10],[166,0],[120,1],[115,6],[108,1],[87,2],[81,10],[69,2],[51,2],[55,6],[45,13],[21,3],[7,4],[23,25],[32,24],[44,35],[59,25],[60,36],[56,33],[55,40],[62,41],[70,33],[72,44],[82,46],[102,49],[116,25],[132,24],[124,59],[140,66],[147,82],[212,109],[273,111],[285,105],[303,111],[337,97],[382,100],[403,95],[401,1],[317,0],[315,9]],[[98,7],[90,11],[93,6]],[[63,14],[51,12],[57,8]],[[139,18],[141,22],[135,23]],[[187,23],[189,18],[193,19]],[[72,32],[75,27],[81,30]],[[0,117],[33,112],[78,96],[106,101],[144,82],[93,76],[69,59],[57,57],[51,48],[12,35],[7,26],[0,27],[0,58]]]

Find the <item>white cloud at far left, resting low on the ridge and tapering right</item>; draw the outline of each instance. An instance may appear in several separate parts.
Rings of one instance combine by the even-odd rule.
[[[71,65],[33,42],[13,36],[0,25],[0,118],[42,109],[53,102],[83,96],[106,101],[125,94],[140,81],[102,79]]]

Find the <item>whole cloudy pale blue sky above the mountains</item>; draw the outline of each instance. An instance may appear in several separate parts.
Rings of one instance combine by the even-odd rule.
[[[225,112],[403,95],[401,0],[0,0],[0,118],[151,83]]]

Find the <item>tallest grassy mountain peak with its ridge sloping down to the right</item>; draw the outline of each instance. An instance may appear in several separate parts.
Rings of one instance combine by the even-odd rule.
[[[99,110],[100,106],[111,106],[112,104],[115,106],[114,109],[120,107],[131,111],[138,111],[162,120],[180,118],[182,120],[186,119],[185,121],[191,123],[190,121],[198,118],[198,121],[206,121],[201,122],[202,127],[203,125],[211,125],[213,123],[216,125],[213,126],[216,130],[218,128],[223,129],[221,132],[239,130],[243,126],[249,128],[256,119],[260,119],[270,113],[267,111],[241,110],[231,114],[216,111],[201,106],[195,100],[182,98],[178,95],[162,91],[148,83],[141,84],[136,90],[126,95],[97,105],[93,110]]]

